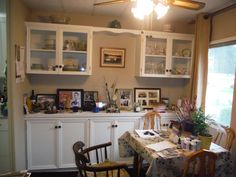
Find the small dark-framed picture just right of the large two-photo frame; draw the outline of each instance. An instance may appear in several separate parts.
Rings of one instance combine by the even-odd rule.
[[[84,111],[92,111],[98,102],[98,91],[84,91]]]

